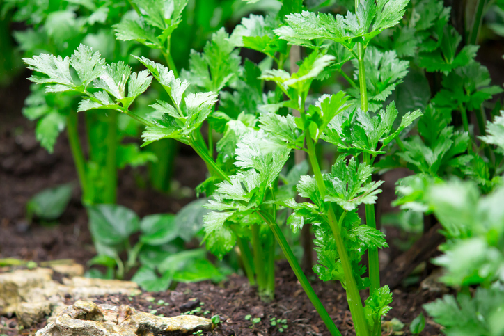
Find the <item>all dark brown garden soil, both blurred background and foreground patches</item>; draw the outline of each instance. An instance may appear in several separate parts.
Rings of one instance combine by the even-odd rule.
[[[40,148],[34,136],[33,122],[25,120],[20,111],[28,84],[26,74],[8,88],[0,90],[0,258],[18,257],[42,262],[72,258],[86,265],[95,256],[93,241],[87,228],[86,211],[79,202],[79,191],[74,195],[65,214],[57,224],[28,223],[25,219],[25,204],[35,193],[45,188],[68,182],[77,185],[77,175],[72,163],[70,147],[63,133],[58,139],[53,154]],[[81,122],[83,125],[84,122]],[[84,129],[80,129],[84,133]],[[206,168],[202,161],[189,149],[180,148],[175,161],[174,178],[187,190],[194,189],[205,178]],[[139,188],[136,181],[146,178],[143,169],[126,169],[119,175],[118,203],[136,211],[139,216],[155,213],[176,213],[195,198],[178,198],[157,193],[148,188]],[[397,176],[389,176],[384,185],[384,201],[393,200],[393,183]],[[386,228],[389,241],[399,237],[394,228]],[[393,259],[400,250],[394,246],[384,250],[385,259]],[[205,317],[218,314],[223,321],[216,335],[329,335],[317,312],[301,289],[294,274],[285,261],[278,262],[275,299],[263,303],[248,285],[246,278],[231,275],[219,284],[199,282],[179,284],[174,290],[161,293],[143,293],[140,296],[106,296],[95,298],[96,303],[113,305],[127,304],[132,307],[166,317],[201,307]],[[420,273],[422,280],[426,273]],[[313,287],[329,314],[336,322],[342,335],[354,335],[352,319],[345,300],[344,290],[336,282],[321,282],[310,275]],[[420,289],[419,281],[393,291],[393,310],[386,317],[399,319],[405,324],[402,332],[408,335],[407,326],[422,312],[421,305],[441,296],[439,292]],[[152,301],[152,297],[154,300]],[[161,300],[161,301],[159,301]],[[72,298],[68,297],[68,304]],[[164,302],[159,305],[158,302]],[[166,305],[165,303],[168,303]],[[246,315],[251,319],[246,319]],[[260,322],[252,323],[258,317]],[[287,328],[280,331],[271,326],[271,319],[285,319]],[[0,317],[0,334],[31,335],[45,326],[42,321],[31,329],[19,330],[15,317]],[[422,335],[438,335],[439,326],[427,319]],[[388,335],[393,335],[391,330]]]

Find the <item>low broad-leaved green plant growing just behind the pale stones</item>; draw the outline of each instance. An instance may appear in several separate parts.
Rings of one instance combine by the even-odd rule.
[[[88,207],[90,231],[98,255],[89,265],[107,266],[107,275],[92,269],[92,275],[116,277],[123,275],[138,261],[141,267],[132,280],[146,291],[165,291],[172,282],[195,282],[222,279],[221,272],[206,258],[205,250],[185,250],[184,242],[200,232],[206,199],[189,203],[177,215],[154,214],[141,220],[134,211],[120,205]],[[133,234],[139,241],[130,245]],[[126,251],[124,263],[119,255]]]

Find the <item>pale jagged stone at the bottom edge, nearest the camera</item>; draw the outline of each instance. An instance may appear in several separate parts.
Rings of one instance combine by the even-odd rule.
[[[212,321],[204,317],[184,315],[157,317],[136,311],[128,305],[96,305],[90,301],[76,301],[65,308],[37,336],[147,336],[187,334],[198,330],[212,330]]]

